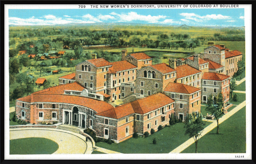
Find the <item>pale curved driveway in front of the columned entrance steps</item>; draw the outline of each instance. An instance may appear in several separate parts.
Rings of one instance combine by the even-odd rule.
[[[56,142],[59,148],[53,154],[91,154],[92,152],[91,142],[85,142],[85,136],[78,133],[55,128],[10,129],[10,140],[29,137],[48,138]]]

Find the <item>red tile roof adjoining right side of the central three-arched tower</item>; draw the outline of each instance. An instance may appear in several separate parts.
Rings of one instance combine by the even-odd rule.
[[[186,77],[189,75],[193,75],[195,73],[202,72],[202,71],[199,71],[198,69],[195,69],[194,67],[191,67],[187,64],[178,66],[178,67],[176,67],[175,70],[177,71],[177,78],[182,78],[182,77]]]

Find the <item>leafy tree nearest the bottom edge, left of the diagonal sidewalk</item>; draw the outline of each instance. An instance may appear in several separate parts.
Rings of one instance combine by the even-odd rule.
[[[202,114],[198,113],[196,114],[193,112],[192,114],[189,114],[186,118],[186,123],[184,128],[186,128],[185,135],[189,135],[189,137],[193,137],[196,144],[196,153],[197,153],[197,142],[202,134],[202,130],[204,129],[205,123],[202,120]]]

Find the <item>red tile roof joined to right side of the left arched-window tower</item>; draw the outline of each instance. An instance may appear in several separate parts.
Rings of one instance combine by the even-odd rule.
[[[127,62],[126,60],[119,61],[119,62],[111,62],[111,65],[112,65],[112,67],[109,68],[108,73],[116,73],[118,71],[137,68],[130,62]]]

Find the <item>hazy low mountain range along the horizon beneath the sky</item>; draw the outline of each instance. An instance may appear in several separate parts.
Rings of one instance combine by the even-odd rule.
[[[17,27],[19,25],[9,25],[9,27]],[[24,25],[23,25],[24,26]],[[29,25],[31,26],[31,25]],[[204,27],[204,28],[214,28],[214,29],[221,29],[221,28],[245,28],[245,26],[242,27],[222,27],[222,26],[187,26],[186,24],[183,25],[164,25],[164,24],[139,24],[139,23],[70,23],[70,24],[56,24],[56,25],[33,25],[33,26],[106,26],[107,28],[113,28],[115,26],[154,26],[154,27],[177,27],[180,29],[191,29],[193,27]]]

